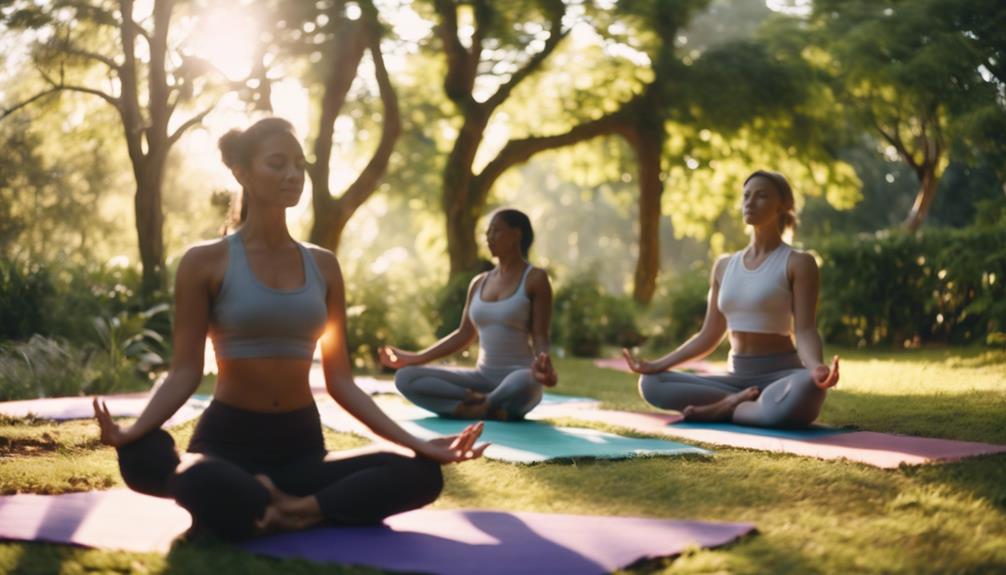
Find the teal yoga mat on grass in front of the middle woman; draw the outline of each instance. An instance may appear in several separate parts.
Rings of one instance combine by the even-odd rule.
[[[398,422],[420,437],[452,435],[471,421],[422,417]],[[482,440],[492,443],[486,457],[533,463],[565,457],[625,458],[637,455],[711,454],[711,451],[668,441],[641,439],[580,427],[555,427],[537,421],[486,421]]]

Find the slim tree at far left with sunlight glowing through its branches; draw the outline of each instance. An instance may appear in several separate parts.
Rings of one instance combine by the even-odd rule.
[[[173,0],[155,0],[138,20],[133,0],[21,1],[3,12],[12,30],[30,31],[35,70],[46,87],[6,108],[0,119],[52,94],[97,97],[119,115],[136,184],[134,210],[143,265],[142,292],[165,288],[162,182],[171,147],[212,110],[174,122],[209,71],[206,62],[178,53],[169,42]],[[114,46],[105,49],[107,46]],[[97,73],[95,68],[101,68]]]

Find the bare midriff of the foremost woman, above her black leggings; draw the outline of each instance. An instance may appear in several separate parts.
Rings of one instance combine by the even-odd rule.
[[[294,411],[314,401],[310,372],[307,359],[220,359],[213,398],[248,411]]]

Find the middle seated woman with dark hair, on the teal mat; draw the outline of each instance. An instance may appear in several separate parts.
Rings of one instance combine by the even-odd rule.
[[[542,386],[558,382],[548,355],[552,288],[545,270],[527,262],[534,231],[523,212],[495,212],[486,240],[498,263],[469,284],[461,326],[417,353],[385,346],[380,359],[398,370],[395,386],[421,407],[447,417],[520,419],[541,401]],[[465,349],[476,335],[475,369],[418,367]]]

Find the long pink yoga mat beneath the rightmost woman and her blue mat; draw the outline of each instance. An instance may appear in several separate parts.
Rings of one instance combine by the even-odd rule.
[[[678,439],[702,441],[730,447],[759,449],[807,455],[821,459],[848,459],[876,467],[894,468],[901,464],[916,465],[937,461],[955,461],[975,455],[1006,452],[1006,445],[977,443],[933,437],[913,437],[850,431],[822,437],[787,438],[720,429],[682,428],[672,425],[681,420],[677,413],[639,413],[605,409],[565,409],[554,406],[549,411],[586,421],[620,425],[638,431],[666,435]]]

